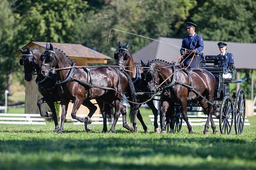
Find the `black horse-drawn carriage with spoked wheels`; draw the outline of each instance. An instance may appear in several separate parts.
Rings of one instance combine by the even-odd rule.
[[[235,74],[233,72],[235,67],[233,64],[228,67],[231,71],[230,73],[232,78],[223,78],[223,74],[227,74],[227,69],[223,67],[223,60],[227,60],[227,56],[206,55],[204,57],[203,53],[202,62],[199,64],[199,67],[211,72],[216,78],[217,85],[213,101],[217,105],[217,110],[215,110],[217,117],[213,118],[219,119],[220,132],[222,134],[230,134],[234,124],[236,134],[241,134],[243,133],[245,122],[244,89],[240,88],[237,92],[233,92],[231,98],[229,96],[229,84],[241,83],[247,78],[242,78],[241,80],[236,81]],[[198,112],[203,112],[203,110],[195,110],[195,108],[200,107],[200,104],[197,101],[188,102],[187,107],[188,112],[197,112],[197,114]],[[195,118],[195,116],[188,116],[188,118]],[[196,118],[204,119],[205,117],[197,115]],[[179,104],[175,103],[174,115],[172,115],[171,119],[175,132],[179,132],[181,130],[183,122],[182,119],[183,115],[181,107]],[[169,119],[166,121],[167,127],[169,126],[168,122]]]

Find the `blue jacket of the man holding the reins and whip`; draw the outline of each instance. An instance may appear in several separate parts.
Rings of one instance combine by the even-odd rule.
[[[202,54],[201,51],[203,51],[204,49],[204,40],[202,38],[201,35],[197,35],[195,33],[195,35],[193,36],[191,42],[190,42],[190,37],[189,35],[187,37],[184,37],[182,39],[182,45],[181,45],[182,48],[186,48],[188,50],[196,50],[197,53],[199,53],[200,55]],[[184,49],[180,49],[180,54],[181,53],[185,53],[185,50]]]

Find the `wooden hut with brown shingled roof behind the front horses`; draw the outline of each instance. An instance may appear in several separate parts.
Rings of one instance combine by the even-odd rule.
[[[107,59],[111,59],[110,57],[108,57],[102,53],[99,53],[95,50],[92,50],[88,47],[85,47],[81,44],[67,44],[67,43],[51,43],[51,44],[53,45],[53,47],[63,50],[63,52],[66,53],[66,55],[68,55],[68,57],[71,60],[75,60],[77,66],[82,66],[82,65],[86,66],[90,63],[106,64]],[[32,41],[32,42],[28,43],[27,45],[29,46],[29,48],[38,48],[42,51],[45,51],[46,42]],[[27,45],[22,47],[22,49],[25,50]],[[14,54],[21,56],[20,50],[16,51]],[[36,83],[34,81],[30,81],[30,82],[26,81],[25,87],[26,87],[25,113],[39,113],[36,103],[37,103],[37,100],[42,97],[42,95],[38,91],[38,86],[36,85]],[[96,101],[92,100],[92,103],[96,103]],[[98,107],[98,105],[97,105],[97,107]],[[71,113],[72,108],[73,108],[73,104],[69,103],[68,114]],[[46,103],[43,104],[43,109],[50,110],[50,108],[48,107],[48,105]],[[89,112],[89,110],[86,107],[84,107],[83,105],[81,105],[81,107],[77,111],[77,114],[86,114],[88,112]],[[60,109],[60,113],[61,113],[61,109]],[[99,113],[100,113],[100,110],[98,107],[96,114],[99,114]],[[67,116],[66,118],[70,118],[70,117]]]

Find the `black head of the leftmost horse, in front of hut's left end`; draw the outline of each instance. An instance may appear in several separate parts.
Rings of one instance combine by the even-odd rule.
[[[24,67],[24,79],[26,81],[31,81],[33,79],[33,74],[36,70],[36,58],[33,55],[33,51],[27,46],[26,50],[22,50],[21,47],[20,52],[22,53],[20,57],[20,65]]]

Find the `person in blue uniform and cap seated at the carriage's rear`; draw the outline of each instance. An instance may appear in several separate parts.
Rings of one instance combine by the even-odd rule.
[[[224,73],[223,74],[223,78],[225,78],[225,79],[232,78],[231,71],[228,69],[228,66],[229,65],[234,65],[235,66],[233,54],[226,52],[227,44],[224,43],[224,42],[219,42],[218,43],[218,47],[219,47],[219,50],[220,50],[220,54],[219,55],[226,55],[227,56],[227,60],[222,61],[223,62],[223,67],[226,67],[227,68],[227,72],[228,72],[228,73]]]

